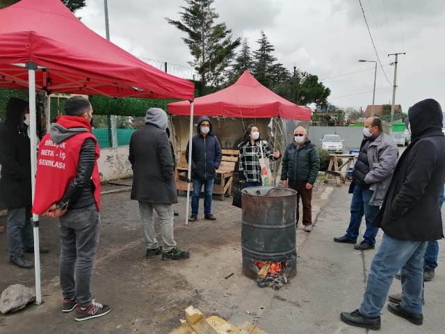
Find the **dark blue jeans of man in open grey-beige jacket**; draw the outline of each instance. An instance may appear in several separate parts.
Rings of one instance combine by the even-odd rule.
[[[366,221],[366,231],[363,239],[369,244],[375,244],[375,236],[378,233],[378,228],[373,226],[373,221],[377,216],[380,207],[377,205],[369,205],[369,200],[373,196],[373,191],[362,189],[357,184],[354,188],[353,200],[350,203],[350,222],[348,230],[346,230],[346,237],[350,240],[356,241],[359,236],[359,228],[362,223],[363,216]]]

